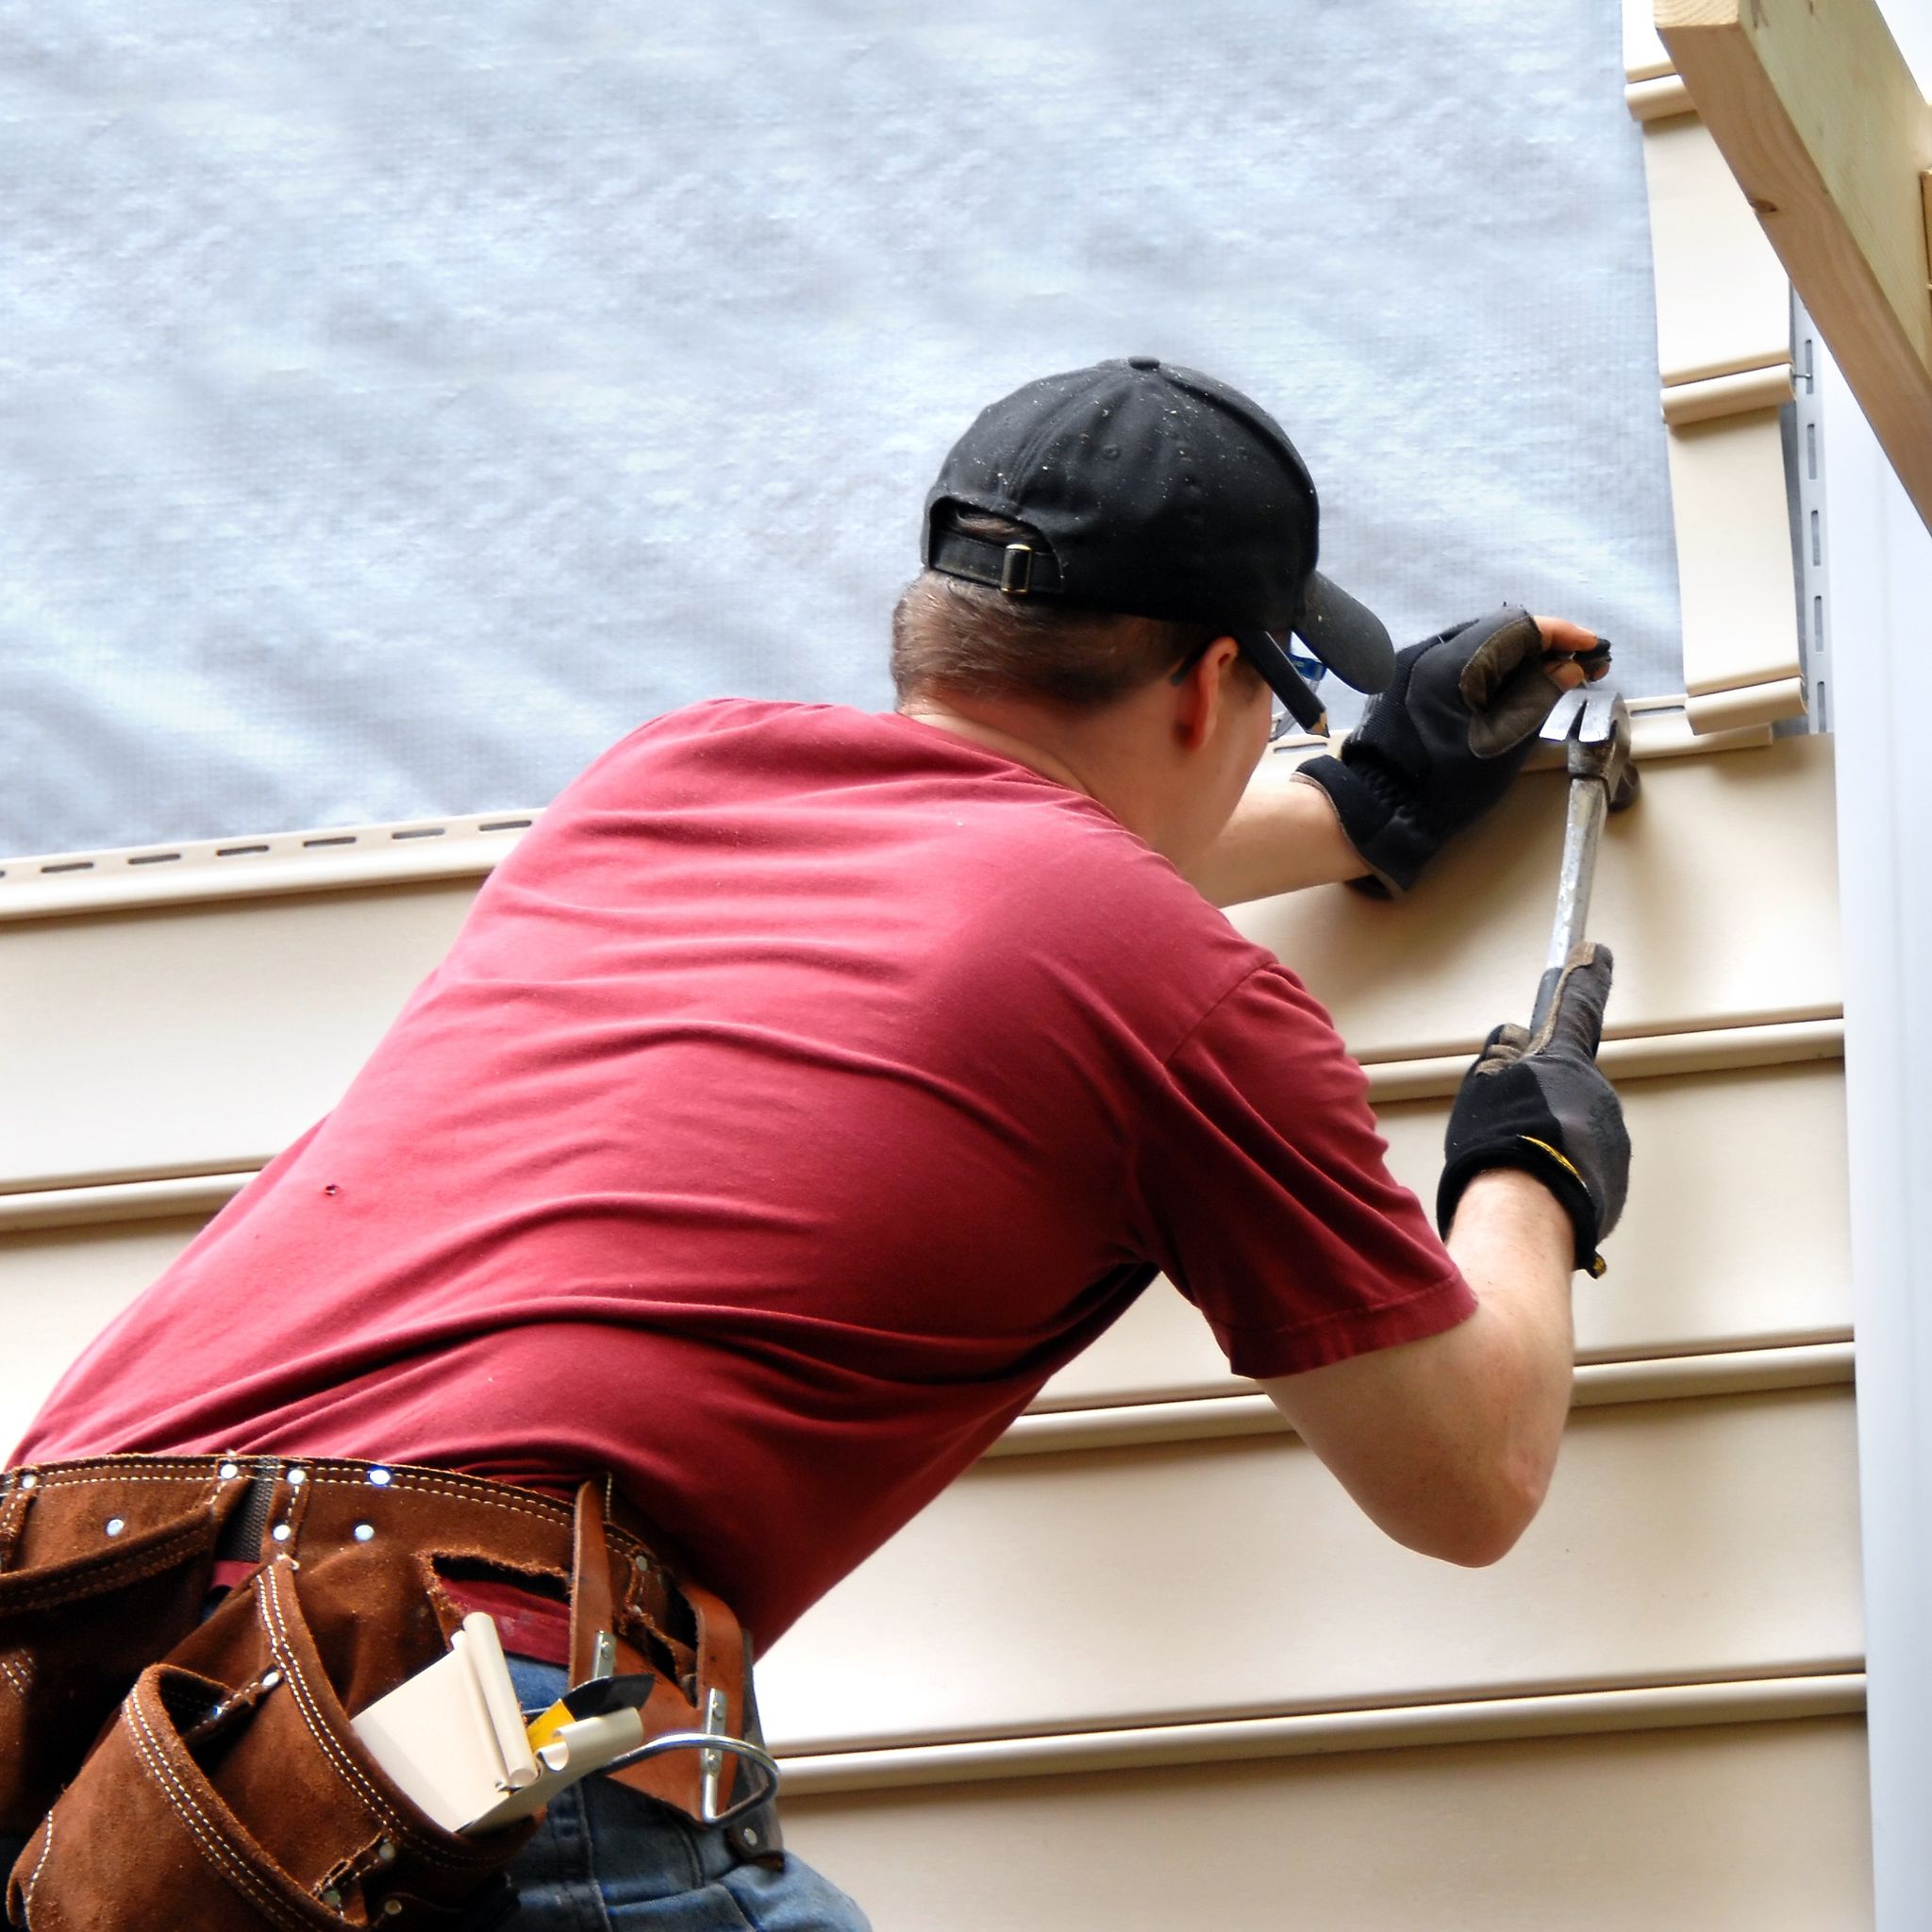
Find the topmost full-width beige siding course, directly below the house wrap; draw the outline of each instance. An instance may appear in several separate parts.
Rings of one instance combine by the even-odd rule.
[[[1611,1034],[1835,1014],[1828,740],[1644,773],[1598,873],[1594,925],[1619,951]],[[1468,1053],[1530,1003],[1561,825],[1559,775],[1532,773],[1401,904],[1335,887],[1235,920],[1302,974],[1360,1059]],[[0,1007],[35,1016],[10,1041],[0,1192],[267,1159],[334,1105],[475,883],[0,923]]]

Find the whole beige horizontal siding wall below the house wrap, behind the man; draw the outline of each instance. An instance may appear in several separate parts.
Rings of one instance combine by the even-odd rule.
[[[1544,1515],[1490,1571],[1399,1549],[1155,1285],[765,1663],[790,1837],[881,1932],[1269,1901],[1870,1924],[1832,744],[1642,736],[1592,922],[1633,1204],[1578,1283]],[[1534,991],[1559,819],[1532,773],[1399,906],[1235,914],[1329,1005],[1418,1188],[1468,1051]],[[0,1434],[330,1105],[514,833],[452,838],[172,879],[102,854],[0,898],[0,1001],[37,1016],[0,1132]]]

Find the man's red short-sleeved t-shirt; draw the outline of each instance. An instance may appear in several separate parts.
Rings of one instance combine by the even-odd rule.
[[[904,717],[645,724],[17,1459],[614,1470],[761,1644],[1157,1265],[1246,1376],[1474,1302],[1294,974]]]

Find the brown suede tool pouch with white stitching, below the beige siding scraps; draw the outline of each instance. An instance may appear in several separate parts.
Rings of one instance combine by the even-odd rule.
[[[141,1671],[14,1866],[8,1917],[29,1932],[495,1922],[535,1824],[440,1830],[346,1710],[442,1648],[427,1567],[404,1549],[267,1563]]]

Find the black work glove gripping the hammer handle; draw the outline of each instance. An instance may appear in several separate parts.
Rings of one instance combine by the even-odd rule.
[[[1476,1175],[1519,1167],[1542,1180],[1571,1217],[1577,1265],[1604,1273],[1596,1244],[1617,1225],[1631,1184],[1623,1107],[1596,1070],[1609,970],[1609,947],[1575,947],[1542,1032],[1532,1037],[1524,1026],[1499,1026],[1463,1076],[1435,1190],[1443,1235]]]

